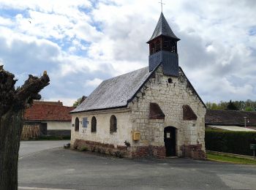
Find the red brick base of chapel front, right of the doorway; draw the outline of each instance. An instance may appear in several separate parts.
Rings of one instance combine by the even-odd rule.
[[[202,150],[202,145],[181,146],[182,156],[190,159],[206,159],[206,152]]]

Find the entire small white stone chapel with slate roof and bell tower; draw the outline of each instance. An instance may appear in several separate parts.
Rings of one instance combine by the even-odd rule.
[[[161,12],[147,42],[148,66],[103,81],[72,110],[72,148],[206,158],[206,105],[178,66],[179,40]]]

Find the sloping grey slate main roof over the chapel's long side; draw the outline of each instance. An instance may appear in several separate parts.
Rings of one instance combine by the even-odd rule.
[[[127,106],[129,100],[143,86],[152,72],[148,72],[148,66],[146,66],[142,69],[104,80],[71,113]]]

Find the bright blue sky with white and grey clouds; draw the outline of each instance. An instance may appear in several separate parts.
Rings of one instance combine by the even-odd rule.
[[[256,100],[255,0],[164,0],[179,66],[203,102]],[[45,101],[72,105],[148,66],[159,0],[0,0],[0,65],[21,86],[46,70]]]

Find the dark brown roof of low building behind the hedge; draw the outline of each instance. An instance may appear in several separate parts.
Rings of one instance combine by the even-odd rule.
[[[236,110],[207,110],[206,124],[244,126],[244,117],[249,119],[248,126],[256,125],[256,112]]]

